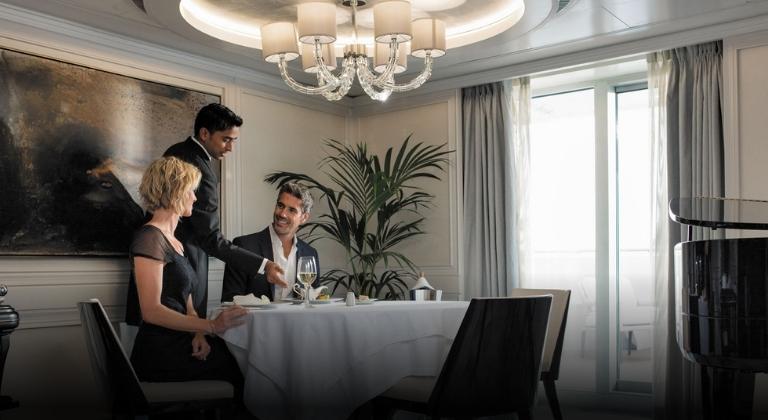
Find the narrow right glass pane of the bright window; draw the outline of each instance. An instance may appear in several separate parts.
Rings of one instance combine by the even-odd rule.
[[[648,89],[616,89],[617,389],[648,390],[653,334]]]

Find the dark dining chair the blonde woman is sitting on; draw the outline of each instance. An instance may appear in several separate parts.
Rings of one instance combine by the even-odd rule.
[[[91,299],[77,306],[96,381],[113,418],[171,412],[218,418],[222,408],[233,406],[234,388],[226,381],[139,382],[101,302]]]

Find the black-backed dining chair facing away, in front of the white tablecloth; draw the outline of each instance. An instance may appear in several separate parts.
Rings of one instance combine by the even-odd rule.
[[[472,299],[437,377],[409,376],[372,401],[433,419],[517,413],[531,418],[552,296]]]

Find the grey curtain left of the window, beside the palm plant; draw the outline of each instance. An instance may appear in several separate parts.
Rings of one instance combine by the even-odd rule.
[[[462,89],[465,297],[519,284],[509,84]]]

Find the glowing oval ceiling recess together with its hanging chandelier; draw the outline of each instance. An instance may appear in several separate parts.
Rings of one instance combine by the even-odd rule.
[[[433,59],[451,48],[494,37],[518,23],[523,0],[181,0],[179,13],[196,30],[262,50],[293,90],[343,98],[355,78],[372,98],[413,90],[432,74]],[[407,56],[423,70],[398,83]],[[340,58],[337,63],[336,57]],[[287,63],[301,57],[316,85],[294,80]],[[373,68],[369,68],[369,59]],[[332,71],[337,70],[334,74]]]

